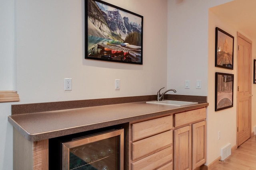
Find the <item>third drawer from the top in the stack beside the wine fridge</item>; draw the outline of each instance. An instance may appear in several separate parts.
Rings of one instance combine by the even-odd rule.
[[[156,168],[166,164],[169,165],[172,161],[172,147],[166,148],[155,154],[147,156],[141,160],[132,163],[132,170],[155,170]],[[167,166],[165,165],[165,166]],[[165,166],[161,167],[160,170],[165,170]],[[169,166],[168,166],[169,167]],[[164,169],[162,169],[164,168]],[[166,170],[171,170],[166,169]]]

